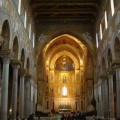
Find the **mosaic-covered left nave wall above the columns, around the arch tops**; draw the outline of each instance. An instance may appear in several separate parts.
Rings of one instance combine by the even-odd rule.
[[[27,58],[30,60],[30,73],[34,76],[35,75],[35,63],[34,63],[34,50],[32,47],[33,39],[29,39],[29,33],[28,29],[25,29],[24,23],[22,21],[22,15],[18,14],[17,11],[17,1],[14,0],[2,0],[0,2],[0,34],[2,31],[2,25],[5,20],[8,20],[10,25],[10,42],[9,42],[9,49],[13,49],[13,41],[14,38],[18,38],[18,44],[19,44],[19,56],[18,59],[20,60],[21,57],[21,50],[24,49],[25,51],[25,65],[24,68],[26,68]],[[17,3],[18,4],[18,3]],[[32,19],[32,15],[30,14],[30,7],[28,4],[25,4],[26,10],[28,11],[28,14],[30,15],[28,18],[31,19],[31,25],[32,25],[32,33],[35,33],[34,29],[34,21]],[[23,7],[21,8],[23,9]],[[27,22],[27,26],[29,26],[29,22]],[[34,71],[34,72],[33,72]],[[34,76],[35,77],[35,76]]]

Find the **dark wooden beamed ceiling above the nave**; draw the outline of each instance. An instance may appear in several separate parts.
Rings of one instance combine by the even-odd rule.
[[[94,22],[101,0],[30,0],[35,21]]]

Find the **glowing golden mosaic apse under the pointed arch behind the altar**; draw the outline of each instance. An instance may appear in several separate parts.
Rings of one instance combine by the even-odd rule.
[[[67,34],[46,44],[37,63],[38,81],[42,88],[39,88],[42,96],[38,98],[40,109],[43,104],[49,106],[45,111],[61,112],[65,109],[76,112],[83,109],[80,104],[84,101],[86,90],[85,69],[90,69],[86,67],[87,54],[87,47],[79,39]],[[48,103],[54,104],[54,108]]]

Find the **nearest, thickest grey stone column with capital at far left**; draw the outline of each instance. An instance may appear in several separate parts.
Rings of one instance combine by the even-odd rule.
[[[0,55],[2,55],[3,57],[0,120],[7,120],[9,63],[10,63],[10,58],[12,57],[12,52],[10,50],[2,50],[0,51]]]

